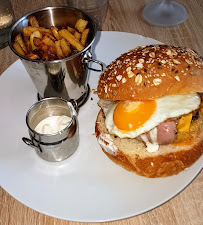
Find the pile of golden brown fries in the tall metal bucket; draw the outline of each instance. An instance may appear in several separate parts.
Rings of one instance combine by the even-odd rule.
[[[61,29],[40,27],[34,16],[28,18],[29,26],[23,27],[13,42],[14,49],[29,59],[51,61],[63,59],[82,51],[87,46],[90,32],[88,21],[79,19],[75,27],[64,25]]]

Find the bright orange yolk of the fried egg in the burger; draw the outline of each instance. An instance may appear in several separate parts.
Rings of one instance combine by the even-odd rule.
[[[115,108],[113,121],[122,131],[135,131],[154,113],[155,101],[121,101]]]

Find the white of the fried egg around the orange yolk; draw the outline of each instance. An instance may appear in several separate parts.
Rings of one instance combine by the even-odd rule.
[[[200,97],[198,94],[182,94],[169,95],[156,99],[156,109],[152,116],[141,127],[135,131],[125,132],[116,127],[113,122],[113,114],[116,104],[109,104],[108,110],[105,110],[105,125],[110,134],[114,134],[120,138],[136,138],[143,133],[146,133],[160,123],[169,118],[179,117],[196,110],[200,105]],[[122,118],[120,118],[122,120]]]

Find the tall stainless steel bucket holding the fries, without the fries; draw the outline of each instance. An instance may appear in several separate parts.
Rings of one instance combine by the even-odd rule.
[[[75,55],[54,61],[32,60],[18,54],[12,46],[17,34],[22,34],[23,27],[28,26],[28,17],[33,15],[39,21],[40,26],[49,28],[55,26],[62,28],[64,25],[74,27],[78,19],[88,21],[90,34],[88,46]],[[96,35],[95,22],[83,11],[70,7],[47,7],[30,12],[19,19],[11,28],[9,34],[9,46],[20,57],[28,74],[30,75],[39,95],[46,97],[62,97],[70,100],[75,99],[81,106],[89,94],[88,67],[89,62],[100,65],[101,69],[93,69],[101,72],[101,62],[92,59],[91,46]]]

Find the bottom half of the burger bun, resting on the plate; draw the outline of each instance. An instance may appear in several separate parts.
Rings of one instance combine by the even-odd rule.
[[[195,121],[195,141],[192,145],[161,145],[157,152],[148,152],[145,145],[136,139],[119,138],[108,133],[105,118],[100,110],[95,125],[97,138],[100,135],[110,135],[116,152],[106,151],[100,144],[103,152],[117,165],[145,177],[166,177],[190,167],[203,153],[203,119]]]

